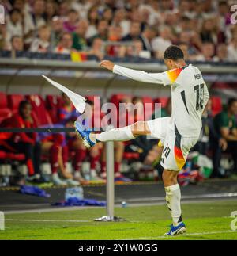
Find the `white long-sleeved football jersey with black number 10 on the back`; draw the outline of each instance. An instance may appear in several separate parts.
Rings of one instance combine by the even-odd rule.
[[[169,128],[184,137],[200,135],[201,115],[209,100],[209,91],[198,67],[190,64],[162,73],[147,73],[115,65],[113,72],[140,82],[171,86],[172,114]]]

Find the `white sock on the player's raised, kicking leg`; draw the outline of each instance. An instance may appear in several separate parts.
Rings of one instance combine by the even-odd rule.
[[[126,126],[123,128],[114,128],[107,132],[101,132],[100,134],[95,134],[96,140],[99,141],[126,141],[130,139],[134,139],[133,132],[130,126]]]

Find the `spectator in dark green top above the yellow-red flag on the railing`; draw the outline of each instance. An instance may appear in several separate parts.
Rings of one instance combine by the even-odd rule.
[[[73,32],[73,48],[77,51],[85,51],[88,48],[85,34],[88,29],[88,21],[81,20],[77,24],[77,29]]]

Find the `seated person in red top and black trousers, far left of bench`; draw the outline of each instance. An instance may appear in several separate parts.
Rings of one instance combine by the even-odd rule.
[[[9,120],[7,127],[36,128],[36,123],[32,119],[32,105],[29,101],[21,101],[18,113]],[[24,162],[28,167],[28,180],[43,182],[44,179],[40,177],[41,147],[40,143],[36,142],[36,132],[15,132],[7,143],[13,152],[24,153]]]

